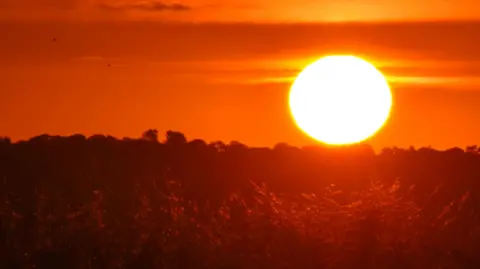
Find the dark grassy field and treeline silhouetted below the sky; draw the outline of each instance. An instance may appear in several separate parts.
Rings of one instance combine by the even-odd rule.
[[[480,268],[479,179],[476,147],[0,139],[0,268]]]

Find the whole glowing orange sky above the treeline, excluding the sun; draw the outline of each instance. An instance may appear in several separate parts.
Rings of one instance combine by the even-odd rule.
[[[374,63],[392,88],[391,118],[368,141],[376,149],[477,144],[476,5],[3,0],[0,134],[121,138],[156,128],[312,144],[290,117],[290,85],[319,57],[348,53]]]

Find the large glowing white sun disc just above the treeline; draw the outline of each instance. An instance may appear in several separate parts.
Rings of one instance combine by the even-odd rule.
[[[320,58],[295,79],[289,94],[297,126],[329,145],[361,142],[387,121],[392,94],[371,63],[352,55]]]

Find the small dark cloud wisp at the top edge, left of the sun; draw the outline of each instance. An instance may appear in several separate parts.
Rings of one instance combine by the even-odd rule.
[[[140,11],[188,11],[191,6],[173,3],[166,4],[160,1],[136,1],[128,3],[102,3],[100,7],[107,10],[140,10]]]

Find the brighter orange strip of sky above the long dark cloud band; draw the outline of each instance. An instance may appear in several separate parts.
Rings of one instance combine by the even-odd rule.
[[[2,0],[0,18],[182,21],[477,19],[474,0]]]

